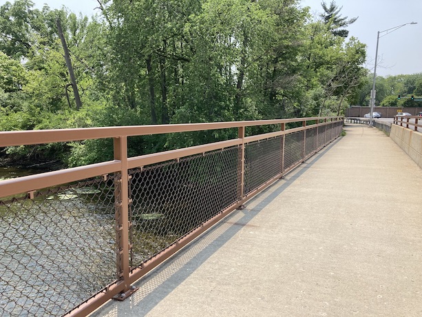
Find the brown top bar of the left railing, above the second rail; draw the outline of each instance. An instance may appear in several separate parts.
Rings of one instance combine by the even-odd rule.
[[[29,130],[0,132],[0,147],[14,145],[33,145],[54,142],[81,141],[88,139],[107,139],[122,136],[140,136],[175,132],[218,130],[231,127],[251,127],[301,121],[335,119],[342,116],[316,116],[312,118],[274,119],[259,121],[228,121],[215,123],[182,123],[168,125],[127,125],[118,127],[84,127],[79,129]]]

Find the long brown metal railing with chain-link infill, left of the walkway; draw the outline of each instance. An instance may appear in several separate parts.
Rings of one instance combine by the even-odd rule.
[[[286,129],[286,123],[302,127]],[[279,131],[245,136],[246,127]],[[341,134],[341,117],[0,132],[0,146],[114,139],[114,161],[0,181],[0,315],[86,316]],[[136,135],[238,138],[127,157]]]

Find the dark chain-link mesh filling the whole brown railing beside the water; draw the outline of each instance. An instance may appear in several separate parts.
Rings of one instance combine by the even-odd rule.
[[[1,198],[0,316],[62,316],[106,294],[124,278],[127,237],[133,273],[333,141],[341,128],[342,121],[326,122],[132,168],[127,209],[120,173]]]

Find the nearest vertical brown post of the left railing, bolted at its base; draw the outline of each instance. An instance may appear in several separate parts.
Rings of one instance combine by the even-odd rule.
[[[134,289],[129,283],[129,176],[127,173],[127,136],[114,138],[114,159],[120,161],[120,178],[117,180],[116,206],[116,243],[117,274],[124,283],[124,289],[116,299],[127,298]]]

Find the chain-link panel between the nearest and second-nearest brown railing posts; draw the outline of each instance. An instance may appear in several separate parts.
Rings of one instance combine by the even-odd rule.
[[[169,245],[240,198],[239,147],[131,170],[131,265]]]

